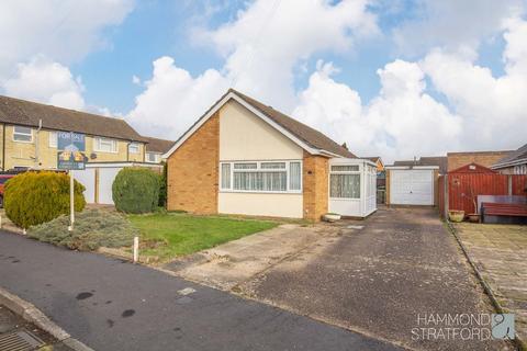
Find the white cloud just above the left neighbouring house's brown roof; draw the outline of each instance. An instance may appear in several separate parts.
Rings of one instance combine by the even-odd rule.
[[[82,110],[82,82],[69,69],[42,56],[27,64],[16,65],[14,77],[3,81],[2,88],[11,97],[57,106]]]

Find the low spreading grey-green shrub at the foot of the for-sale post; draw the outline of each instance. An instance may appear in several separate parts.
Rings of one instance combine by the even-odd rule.
[[[65,246],[72,250],[97,250],[131,246],[138,230],[115,212],[87,210],[76,215],[74,230],[68,231],[69,217],[59,216],[48,223],[31,227],[27,236],[44,242]]]

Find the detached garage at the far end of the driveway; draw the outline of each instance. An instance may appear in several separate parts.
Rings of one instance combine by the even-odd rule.
[[[437,166],[386,167],[386,204],[436,204]]]

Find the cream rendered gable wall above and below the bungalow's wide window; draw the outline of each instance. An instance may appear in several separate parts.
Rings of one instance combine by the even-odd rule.
[[[302,160],[303,149],[250,111],[229,101],[220,110],[220,160]],[[302,194],[218,193],[218,213],[302,218]]]

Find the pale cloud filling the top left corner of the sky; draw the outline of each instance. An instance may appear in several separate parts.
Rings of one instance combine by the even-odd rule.
[[[105,45],[102,30],[120,24],[133,0],[2,1],[0,77],[27,57],[67,64]]]

